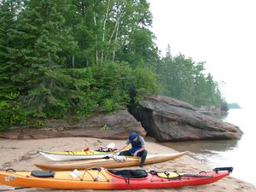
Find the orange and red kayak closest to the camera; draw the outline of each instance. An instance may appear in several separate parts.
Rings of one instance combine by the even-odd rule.
[[[217,182],[232,172],[232,167],[215,168],[214,172],[178,173],[145,172],[143,169],[54,172],[0,171],[0,183],[22,188],[50,189],[157,189],[177,188]]]

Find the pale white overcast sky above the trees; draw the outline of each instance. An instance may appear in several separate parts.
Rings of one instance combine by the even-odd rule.
[[[156,44],[172,55],[206,61],[228,102],[256,99],[256,1],[148,0]]]

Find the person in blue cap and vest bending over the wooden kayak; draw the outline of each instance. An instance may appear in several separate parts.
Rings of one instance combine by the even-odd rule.
[[[125,149],[129,144],[131,144],[131,148],[126,151],[122,151]],[[119,148],[117,153],[119,155],[127,155],[127,156],[137,156],[141,157],[140,167],[142,168],[144,165],[144,161],[147,158],[148,151],[145,147],[145,141],[144,138],[141,136],[138,136],[137,133],[131,132],[129,138],[125,142],[125,146],[123,148]]]

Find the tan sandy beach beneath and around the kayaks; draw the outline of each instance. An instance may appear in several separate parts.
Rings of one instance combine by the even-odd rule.
[[[97,149],[99,147],[107,146],[108,143],[115,143],[118,147],[124,145],[123,140],[106,140],[88,137],[65,137],[65,138],[49,138],[38,140],[9,140],[0,139],[0,165],[1,170],[13,168],[16,171],[33,171],[38,170],[33,166],[34,163],[46,164],[50,160],[45,159],[43,156],[37,153],[37,150],[49,150],[49,151],[67,151],[67,150],[82,150],[85,147],[90,149]],[[172,148],[155,143],[153,139],[146,138],[148,154],[164,154],[176,152]],[[135,167],[137,168],[137,167]],[[210,172],[211,169],[205,165],[202,165],[199,161],[192,159],[189,155],[185,155],[177,160],[170,160],[163,163],[144,166],[146,171],[177,171],[177,172]],[[236,169],[236,167],[234,167]],[[243,182],[235,177],[232,177],[232,173],[229,177],[208,185],[195,186],[195,187],[183,187],[177,189],[138,189],[139,191],[150,192],[253,192],[256,191],[253,184]],[[55,189],[11,189],[10,187],[0,184],[0,191],[67,191],[67,190],[55,190]],[[96,190],[68,190],[68,191],[96,191]],[[113,191],[113,190],[105,190]],[[119,190],[122,191],[122,190]],[[134,190],[125,190],[134,191]]]

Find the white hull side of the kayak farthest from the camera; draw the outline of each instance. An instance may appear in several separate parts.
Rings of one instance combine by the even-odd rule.
[[[49,160],[91,160],[112,157],[113,154],[53,154],[44,151],[38,151]]]

